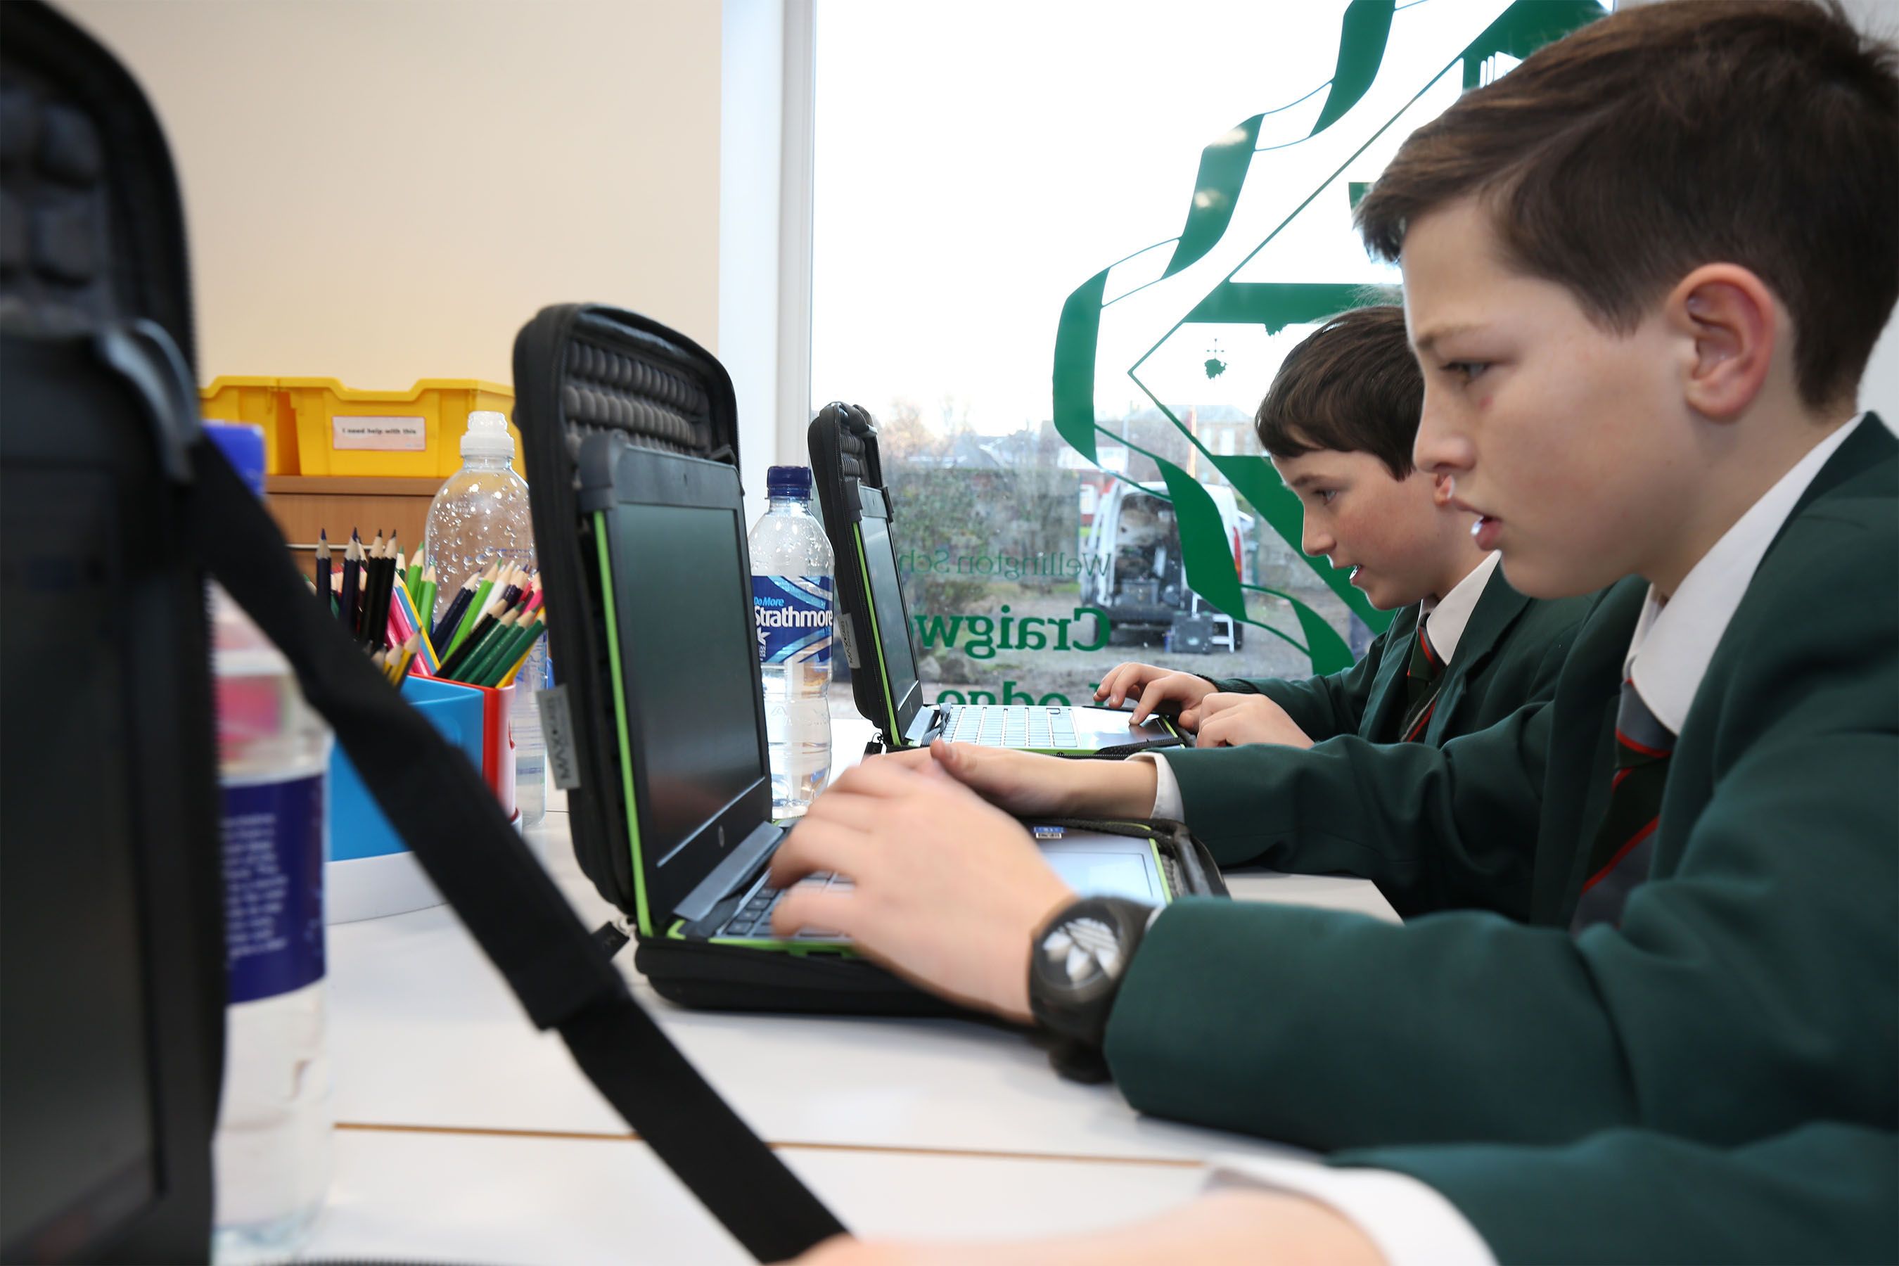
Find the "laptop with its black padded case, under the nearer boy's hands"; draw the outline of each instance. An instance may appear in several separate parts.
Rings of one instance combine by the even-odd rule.
[[[549,763],[570,771],[575,854],[629,917],[636,966],[667,998],[951,1012],[837,936],[771,934],[777,894],[763,875],[784,828],[769,816],[737,457],[716,421],[729,418],[729,385],[699,357],[598,307],[545,309],[517,342],[515,421],[560,678],[551,706],[564,710]],[[668,402],[657,414],[638,399],[655,383]],[[655,416],[672,421],[663,437]],[[1041,824],[1037,835],[1079,890],[1153,902],[1223,892],[1212,858],[1174,824]]]

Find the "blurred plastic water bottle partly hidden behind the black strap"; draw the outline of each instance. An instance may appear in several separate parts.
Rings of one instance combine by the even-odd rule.
[[[262,495],[258,427],[207,427]],[[323,858],[330,731],[270,638],[213,583],[224,801],[224,1088],[211,1156],[213,1257],[281,1260],[330,1184]]]

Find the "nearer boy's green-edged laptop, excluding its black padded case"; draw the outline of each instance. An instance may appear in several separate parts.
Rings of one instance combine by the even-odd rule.
[[[611,473],[587,471],[611,461]],[[587,446],[598,592],[642,940],[849,953],[847,938],[771,932],[767,866],[792,824],[771,820],[765,706],[739,473],[649,448]],[[1196,888],[1149,837],[1035,826],[1081,894],[1164,903]],[[807,884],[849,886],[837,875]]]

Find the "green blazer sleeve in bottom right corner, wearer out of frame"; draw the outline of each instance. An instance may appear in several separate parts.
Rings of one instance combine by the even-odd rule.
[[[1812,1122],[1713,1148],[1646,1129],[1570,1146],[1449,1145],[1331,1158],[1438,1188],[1498,1262],[1893,1262],[1899,1139]]]

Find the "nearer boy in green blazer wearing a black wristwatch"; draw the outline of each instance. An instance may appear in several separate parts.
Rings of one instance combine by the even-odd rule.
[[[1242,797],[1255,748],[1170,765],[1231,837],[1529,922],[1077,902],[991,801],[1141,814],[1153,763],[1008,786],[940,748],[813,805],[773,881],[855,888],[775,926],[1100,1042],[1138,1108],[1324,1152],[1891,1133],[1899,442],[1857,383],[1899,296],[1895,66],[1817,4],[1637,6],[1466,93],[1360,203],[1405,273],[1419,467],[1523,592],[1610,588],[1548,708],[1411,773]]]

